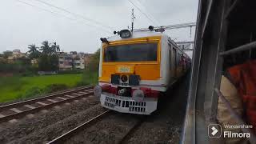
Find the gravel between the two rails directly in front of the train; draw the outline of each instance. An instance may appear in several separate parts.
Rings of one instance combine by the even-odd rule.
[[[118,143],[136,125],[141,115],[120,114],[110,112],[110,116],[82,130],[66,141],[70,143]]]

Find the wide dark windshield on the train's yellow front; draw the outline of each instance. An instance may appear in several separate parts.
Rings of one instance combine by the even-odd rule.
[[[108,46],[104,50],[104,62],[157,61],[158,43],[140,43]]]

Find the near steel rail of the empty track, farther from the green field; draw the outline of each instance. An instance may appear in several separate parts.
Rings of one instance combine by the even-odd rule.
[[[47,104],[45,106],[35,107],[33,109],[30,109],[30,110],[24,110],[24,111],[21,111],[21,112],[18,112],[18,113],[9,114],[9,115],[6,115],[6,116],[0,118],[0,123],[1,122],[6,122],[6,121],[14,119],[14,118],[21,118],[21,117],[25,116],[26,114],[33,114],[33,113],[38,112],[40,110],[46,110],[46,109],[49,109],[53,106],[58,106],[62,103],[71,102],[71,101],[74,101],[76,99],[82,98],[84,96],[89,96],[91,94],[93,94],[93,92],[90,92],[88,94],[81,94],[81,95],[78,95],[78,96],[74,96],[73,98],[66,98],[66,99],[63,99],[63,100],[58,101],[58,102],[53,102],[53,103]]]

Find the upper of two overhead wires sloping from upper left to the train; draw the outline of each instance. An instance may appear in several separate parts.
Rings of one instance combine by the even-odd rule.
[[[86,21],[89,21],[89,22],[93,22],[93,23],[95,23],[95,24],[97,24],[97,25],[99,25],[99,26],[102,26],[102,27],[105,27],[105,28],[107,28],[107,29],[110,29],[110,30],[113,30],[113,31],[114,31],[114,28],[113,28],[113,27],[106,26],[106,25],[102,24],[101,22],[97,22],[97,21],[95,21],[95,20],[93,20],[93,19],[91,19],[91,18],[86,18],[85,16],[83,16],[83,15],[81,15],[81,14],[73,13],[73,12],[71,12],[70,10],[66,10],[66,9],[64,9],[64,8],[62,8],[62,7],[59,7],[59,6],[54,6],[53,4],[50,4],[50,3],[48,3],[48,2],[44,2],[44,1],[42,1],[42,0],[34,0],[34,1],[41,2],[41,3],[43,3],[43,4],[47,5],[47,6],[51,6],[51,7],[54,7],[55,9],[65,11],[66,13],[72,14],[72,15],[78,17],[78,18],[82,18],[83,20],[86,20]]]

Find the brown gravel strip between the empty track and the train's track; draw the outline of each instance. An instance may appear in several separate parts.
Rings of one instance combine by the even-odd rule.
[[[57,106],[47,113],[34,114],[18,122],[0,124],[1,143],[44,143],[93,118],[102,111],[98,99],[91,97]]]

